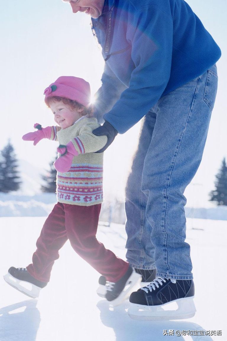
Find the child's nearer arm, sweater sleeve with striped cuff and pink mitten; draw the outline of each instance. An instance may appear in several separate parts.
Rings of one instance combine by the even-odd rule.
[[[58,147],[57,151],[61,156],[54,162],[54,167],[58,172],[68,172],[74,156],[96,152],[106,145],[107,136],[96,136],[92,133],[97,125],[94,122],[85,124],[77,137],[67,143],[66,146],[60,145]]]

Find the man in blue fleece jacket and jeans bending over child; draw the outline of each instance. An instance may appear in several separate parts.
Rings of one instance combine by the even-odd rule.
[[[183,0],[70,5],[91,15],[106,61],[96,94],[97,116],[104,114],[105,122],[94,133],[108,135],[108,146],[146,115],[126,189],[126,247],[134,268],[157,267],[157,277],[130,301],[149,308],[186,302],[194,284],[183,193],[204,150],[220,48]],[[181,318],[192,316],[190,309]]]

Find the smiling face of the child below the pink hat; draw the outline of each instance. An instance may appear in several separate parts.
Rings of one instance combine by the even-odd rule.
[[[50,108],[54,114],[54,121],[60,125],[62,129],[70,127],[80,117],[83,109],[74,109],[69,105],[60,102],[51,102]]]

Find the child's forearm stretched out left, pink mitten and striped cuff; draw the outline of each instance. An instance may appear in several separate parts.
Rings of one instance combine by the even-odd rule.
[[[42,125],[39,123],[34,124],[34,128],[37,131],[25,134],[22,136],[24,141],[34,141],[33,145],[36,146],[37,143],[43,138],[48,138],[49,140],[57,141],[57,132],[61,129],[61,127],[46,127],[42,128]]]

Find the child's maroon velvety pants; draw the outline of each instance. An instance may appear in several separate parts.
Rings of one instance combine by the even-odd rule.
[[[49,282],[59,250],[69,239],[78,255],[108,281],[117,282],[124,276],[129,264],[105,249],[96,239],[100,209],[101,204],[78,206],[57,203],[36,242],[32,264],[27,267],[30,275],[39,281]]]

